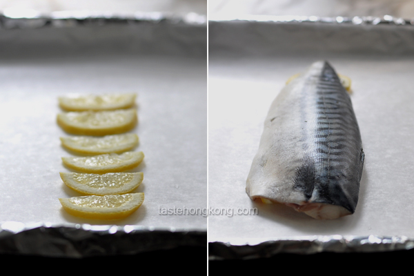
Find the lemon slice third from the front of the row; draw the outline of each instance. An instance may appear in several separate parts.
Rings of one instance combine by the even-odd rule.
[[[143,152],[106,153],[91,157],[62,157],[63,164],[73,170],[88,173],[122,172],[138,166],[144,159]]]

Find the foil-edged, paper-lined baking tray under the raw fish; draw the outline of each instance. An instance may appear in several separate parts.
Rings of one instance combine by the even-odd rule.
[[[246,17],[210,20],[208,32],[210,260],[413,248],[411,21]],[[290,76],[320,59],[352,80],[366,153],[355,214],[328,221],[245,192],[270,103]]]

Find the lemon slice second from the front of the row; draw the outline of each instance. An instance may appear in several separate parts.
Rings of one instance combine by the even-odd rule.
[[[121,195],[132,192],[144,179],[143,172],[60,172],[63,183],[83,195]]]

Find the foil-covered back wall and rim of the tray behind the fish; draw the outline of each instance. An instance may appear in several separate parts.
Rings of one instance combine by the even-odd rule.
[[[413,20],[393,17],[241,17],[209,21],[209,53],[213,57],[220,52],[224,57],[279,53],[412,55],[412,45]]]

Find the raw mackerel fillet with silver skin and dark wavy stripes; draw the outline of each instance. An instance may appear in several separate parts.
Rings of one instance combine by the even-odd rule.
[[[331,65],[317,61],[270,106],[246,193],[336,219],[355,212],[363,166],[348,92]]]

